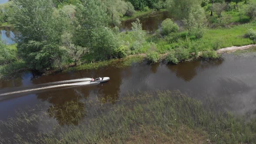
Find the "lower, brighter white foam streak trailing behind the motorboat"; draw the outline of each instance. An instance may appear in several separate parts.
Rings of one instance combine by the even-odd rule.
[[[0,96],[5,96],[5,95],[13,95],[13,94],[18,94],[18,93],[23,93],[23,92],[32,92],[32,91],[38,91],[38,90],[44,90],[44,89],[49,89],[49,88],[58,88],[58,87],[65,87],[65,86],[78,86],[78,85],[90,85],[90,84],[98,84],[99,82],[77,82],[77,83],[71,83],[71,84],[62,84],[62,85],[50,85],[42,88],[32,88],[32,89],[26,89],[22,91],[15,91],[15,92],[7,92],[0,94]]]

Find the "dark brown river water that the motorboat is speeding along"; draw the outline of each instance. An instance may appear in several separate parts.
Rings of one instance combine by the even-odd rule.
[[[108,76],[110,80],[94,85],[64,85],[41,89],[49,82]],[[61,84],[74,83],[62,82]],[[256,54],[223,54],[223,59],[206,62],[184,62],[169,65],[165,62],[149,65],[134,63],[126,68],[111,65],[98,70],[81,70],[57,73],[33,79],[31,72],[24,72],[19,79],[0,81],[0,95],[25,89],[36,91],[0,97],[0,120],[15,117],[15,111],[28,111],[40,105],[43,111],[51,106],[61,106],[69,101],[96,101],[105,99],[115,105],[127,93],[154,90],[180,90],[188,96],[204,100],[223,101],[223,108],[237,114],[256,114]],[[216,105],[218,107],[219,105]]]

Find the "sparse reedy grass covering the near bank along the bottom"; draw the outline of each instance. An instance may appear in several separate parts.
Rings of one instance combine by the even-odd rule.
[[[256,119],[248,120],[246,116],[217,111],[218,101],[207,101],[202,103],[180,92],[158,91],[128,95],[121,98],[119,104],[114,106],[88,103],[81,105],[80,108],[76,102],[71,102],[70,105],[67,104],[69,105],[67,108],[54,109],[53,114],[51,110],[43,112],[42,115],[19,113],[17,118],[0,122],[2,137],[0,142],[47,144],[256,142]],[[87,111],[87,108],[91,107],[94,110]],[[55,115],[59,113],[58,111],[74,115],[72,118],[61,117]],[[86,111],[86,116],[83,111]],[[57,117],[58,121],[65,121],[65,118],[66,121],[70,121],[74,118],[79,124],[55,125],[55,122],[45,118],[48,113]],[[49,129],[45,129],[44,132],[33,132],[38,125],[43,128],[45,124]]]

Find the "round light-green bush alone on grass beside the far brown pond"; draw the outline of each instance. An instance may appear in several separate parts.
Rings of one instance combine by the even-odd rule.
[[[171,19],[167,18],[162,22],[161,29],[162,35],[166,36],[169,33],[178,32],[179,26],[176,23],[174,23]]]

